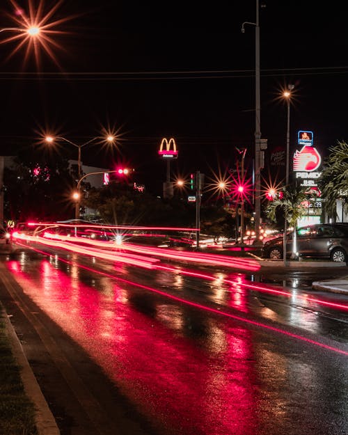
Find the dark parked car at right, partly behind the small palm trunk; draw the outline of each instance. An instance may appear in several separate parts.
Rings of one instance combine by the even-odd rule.
[[[287,235],[286,255],[292,253],[292,233]],[[296,230],[296,253],[299,257],[348,260],[348,223],[317,223]],[[262,247],[262,257],[283,258],[283,236],[269,240]]]

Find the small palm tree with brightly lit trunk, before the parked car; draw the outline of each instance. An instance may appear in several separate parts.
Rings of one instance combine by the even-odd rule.
[[[296,226],[297,221],[305,216],[307,213],[307,208],[303,205],[303,202],[308,200],[307,189],[304,187],[288,186],[280,191],[280,194],[274,198],[274,200],[269,201],[266,209],[264,210],[267,217],[271,221],[276,222],[277,216],[276,212],[281,210],[285,217],[285,231],[284,231],[284,261],[286,256],[286,223],[294,228],[294,237],[292,239],[292,255],[291,258],[296,257]]]

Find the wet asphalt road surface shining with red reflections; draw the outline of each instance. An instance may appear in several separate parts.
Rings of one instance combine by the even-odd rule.
[[[313,292],[319,271],[195,268],[207,280],[28,252],[3,266],[63,435],[348,432],[348,312],[325,305],[348,298]]]

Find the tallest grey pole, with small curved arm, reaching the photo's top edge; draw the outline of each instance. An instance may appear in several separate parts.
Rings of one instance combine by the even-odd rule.
[[[261,174],[260,174],[260,143],[261,143],[261,106],[260,106],[260,6],[259,0],[256,0],[256,19],[253,22],[244,22],[242,24],[242,33],[244,33],[244,25],[251,24],[255,26],[255,235],[256,242],[260,240],[260,214],[261,214]]]

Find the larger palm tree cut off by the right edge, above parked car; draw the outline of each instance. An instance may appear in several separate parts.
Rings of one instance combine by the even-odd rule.
[[[348,144],[338,141],[338,145],[330,147],[329,151],[318,187],[326,214],[335,219],[336,200],[342,199],[346,204],[348,199]]]

